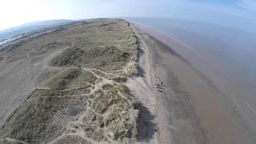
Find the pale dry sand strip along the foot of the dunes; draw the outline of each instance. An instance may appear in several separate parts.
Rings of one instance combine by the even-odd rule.
[[[126,86],[131,90],[131,94],[135,96],[138,102],[142,102],[142,111],[139,114],[138,123],[138,143],[158,143],[155,119],[155,107],[157,99],[155,97],[154,83],[152,83],[152,75],[154,75],[150,66],[150,52],[146,47],[146,43],[141,41],[142,38],[138,31],[131,25],[135,34],[138,36],[138,70],[139,77],[129,78]]]

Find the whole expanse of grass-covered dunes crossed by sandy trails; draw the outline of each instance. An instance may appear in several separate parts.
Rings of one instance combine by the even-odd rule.
[[[78,22],[4,49],[5,62],[46,61],[35,89],[0,129],[0,143],[131,142],[138,110],[122,84],[137,73],[137,38],[128,22]]]

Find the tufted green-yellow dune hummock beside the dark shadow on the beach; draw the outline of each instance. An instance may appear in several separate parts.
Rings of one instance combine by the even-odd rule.
[[[125,138],[136,139],[138,110],[134,110],[129,89],[117,83],[114,86],[106,84],[102,88],[106,92],[95,98],[92,107],[99,114],[106,110],[110,111],[110,114],[104,118],[103,125],[107,134],[118,141],[123,141]]]

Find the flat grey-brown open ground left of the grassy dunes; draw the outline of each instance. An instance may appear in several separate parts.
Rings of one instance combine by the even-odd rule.
[[[48,56],[40,62],[35,62],[31,57],[8,65],[5,62],[0,62],[0,127],[6,123],[7,118],[26,100],[27,96],[37,88],[35,87],[36,78],[47,66],[49,59],[60,52],[62,50],[48,53]]]

